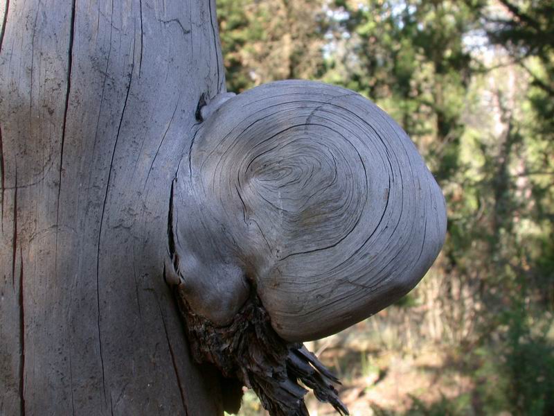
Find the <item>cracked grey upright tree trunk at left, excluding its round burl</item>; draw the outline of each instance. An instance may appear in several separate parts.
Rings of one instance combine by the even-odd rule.
[[[0,6],[0,414],[219,415],[163,281],[214,0]]]

